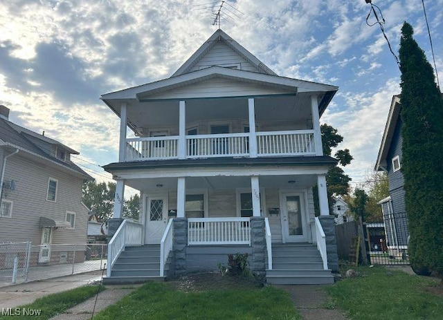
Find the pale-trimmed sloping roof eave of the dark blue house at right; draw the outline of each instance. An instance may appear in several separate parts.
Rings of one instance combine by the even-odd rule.
[[[394,137],[395,126],[399,120],[400,111],[400,95],[394,95],[390,102],[388,120],[386,120],[385,131],[383,131],[383,138],[381,138],[379,155],[377,156],[377,162],[375,162],[375,171],[383,171],[386,169],[386,158],[388,157],[390,144]]]

